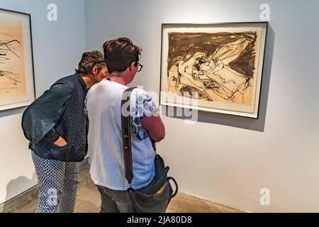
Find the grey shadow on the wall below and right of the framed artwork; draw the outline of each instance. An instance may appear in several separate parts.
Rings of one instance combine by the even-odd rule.
[[[235,128],[245,128],[252,131],[264,131],[264,124],[266,120],[268,95],[269,95],[269,83],[272,72],[272,59],[274,55],[274,40],[275,33],[272,27],[268,26],[267,39],[266,39],[266,49],[264,55],[264,70],[262,73],[262,88],[260,91],[260,102],[259,102],[259,115],[258,119],[247,118],[242,116],[235,116],[229,114],[218,114],[212,112],[198,111],[198,122],[203,123],[215,123],[224,126],[231,126]],[[161,106],[162,113],[164,116],[169,118],[179,118],[179,119],[190,119],[185,116],[177,116],[177,112],[184,113],[181,108],[174,107],[174,116],[169,114],[167,106]],[[183,114],[184,115],[184,114]]]

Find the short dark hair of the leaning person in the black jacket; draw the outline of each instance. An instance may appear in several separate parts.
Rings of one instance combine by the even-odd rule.
[[[96,66],[99,71],[102,70],[103,67],[106,67],[103,54],[98,50],[84,52],[81,62],[79,62],[79,67],[75,71],[82,75],[91,74],[94,66]]]

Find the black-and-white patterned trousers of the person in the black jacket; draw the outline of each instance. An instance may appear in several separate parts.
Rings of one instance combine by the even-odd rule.
[[[79,187],[79,162],[46,160],[32,153],[38,175],[37,213],[73,213]]]

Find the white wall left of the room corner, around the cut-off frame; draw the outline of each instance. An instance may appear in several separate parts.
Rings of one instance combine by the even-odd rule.
[[[57,4],[57,21],[47,5]],[[1,9],[31,14],[36,94],[74,72],[86,50],[84,0],[0,0]],[[0,204],[36,184],[28,142],[21,130],[24,109],[0,112]]]

